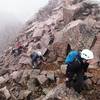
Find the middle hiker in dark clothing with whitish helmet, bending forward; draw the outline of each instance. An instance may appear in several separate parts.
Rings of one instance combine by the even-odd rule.
[[[35,51],[31,54],[31,59],[32,59],[32,65],[33,69],[37,68],[37,66],[41,63],[43,60],[42,53],[40,51]]]

